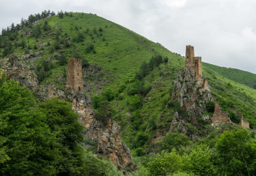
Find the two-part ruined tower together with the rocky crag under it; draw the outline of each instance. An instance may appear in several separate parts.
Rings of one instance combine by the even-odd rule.
[[[177,99],[190,117],[201,116],[212,100],[208,80],[202,77],[201,57],[194,57],[194,47],[186,46],[185,67],[174,80],[172,99]]]

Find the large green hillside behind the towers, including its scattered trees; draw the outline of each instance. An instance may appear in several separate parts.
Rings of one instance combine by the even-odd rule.
[[[47,21],[47,22],[46,22]],[[8,44],[9,43],[9,44]],[[40,84],[46,81],[64,89],[68,58],[80,58],[84,66],[84,91],[95,108],[107,99],[122,127],[122,140],[134,149],[148,148],[170,127],[176,111],[184,113],[171,101],[173,81],[184,66],[184,58],[158,43],[95,14],[66,13],[47,17],[22,28],[17,36],[1,36],[1,58],[9,50],[33,68]],[[185,48],[185,46],[184,46]],[[149,70],[138,79],[143,62],[161,55],[170,61]],[[203,63],[203,76],[224,110],[237,108],[256,126],[256,90],[227,79]],[[200,119],[199,119],[200,121]],[[186,124],[188,136],[204,137],[212,129],[206,124]]]

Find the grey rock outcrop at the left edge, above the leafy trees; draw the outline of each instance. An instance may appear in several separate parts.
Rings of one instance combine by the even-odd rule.
[[[23,61],[20,61],[19,57],[12,54],[6,59],[2,59],[0,66],[8,79],[19,81],[20,86],[26,86],[30,90],[37,90],[37,75]]]

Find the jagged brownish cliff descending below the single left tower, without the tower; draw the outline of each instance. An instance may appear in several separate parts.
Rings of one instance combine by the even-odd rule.
[[[131,157],[131,152],[120,139],[120,126],[116,124],[116,121],[110,118],[107,125],[102,125],[95,119],[91,101],[79,92],[77,92],[72,106],[80,114],[80,122],[86,128],[86,138],[98,143],[96,153],[111,159],[113,164],[121,170],[125,168],[135,170],[136,165]]]

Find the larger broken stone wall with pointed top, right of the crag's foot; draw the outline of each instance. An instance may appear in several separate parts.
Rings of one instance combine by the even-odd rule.
[[[212,124],[225,122],[231,122],[230,118],[228,117],[228,112],[223,112],[221,108],[219,108],[219,102],[215,102],[214,113],[212,115]]]

